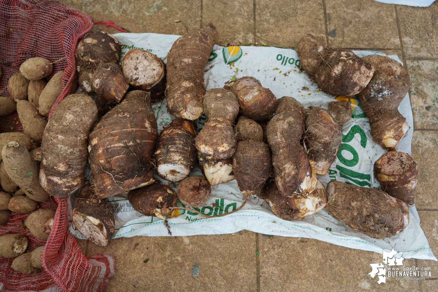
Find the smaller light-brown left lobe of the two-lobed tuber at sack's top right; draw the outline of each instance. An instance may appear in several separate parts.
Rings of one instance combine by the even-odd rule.
[[[295,48],[298,56],[300,56],[300,66],[307,74],[313,76],[323,60],[327,49],[322,42],[313,35],[304,35]]]

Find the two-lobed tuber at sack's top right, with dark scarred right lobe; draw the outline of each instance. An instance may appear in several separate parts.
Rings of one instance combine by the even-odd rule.
[[[331,95],[356,95],[373,77],[374,68],[365,60],[346,49],[326,49],[313,35],[300,39],[297,53],[307,74]]]

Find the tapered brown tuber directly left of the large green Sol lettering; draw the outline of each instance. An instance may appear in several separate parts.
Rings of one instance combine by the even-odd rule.
[[[342,127],[329,111],[310,106],[307,109],[305,142],[312,169],[323,176],[336,160],[342,142]]]

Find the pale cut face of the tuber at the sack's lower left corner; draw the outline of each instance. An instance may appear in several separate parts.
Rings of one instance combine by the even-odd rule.
[[[82,235],[87,239],[91,240],[98,246],[108,245],[109,240],[106,235],[105,225],[103,225],[99,219],[77,213],[72,215],[72,221]],[[101,230],[97,225],[102,226],[103,230]]]

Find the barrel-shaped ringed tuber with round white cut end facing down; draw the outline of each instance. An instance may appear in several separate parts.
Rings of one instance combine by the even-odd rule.
[[[174,119],[158,138],[155,169],[172,182],[186,178],[196,165],[194,138],[198,130],[192,121]]]

